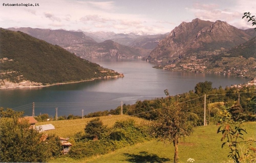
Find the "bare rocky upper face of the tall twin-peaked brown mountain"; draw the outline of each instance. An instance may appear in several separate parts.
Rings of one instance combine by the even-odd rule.
[[[175,62],[199,51],[224,50],[244,43],[252,36],[226,22],[194,19],[182,22],[146,58]]]

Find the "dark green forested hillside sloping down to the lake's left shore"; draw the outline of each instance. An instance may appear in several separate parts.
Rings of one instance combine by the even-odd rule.
[[[0,36],[0,80],[47,85],[118,75],[20,31],[1,28]]]

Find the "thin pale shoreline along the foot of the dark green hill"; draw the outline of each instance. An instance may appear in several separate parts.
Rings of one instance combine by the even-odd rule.
[[[98,77],[98,78],[93,78],[90,80],[81,80],[81,81],[77,81],[77,82],[67,82],[67,83],[54,83],[54,84],[50,84],[50,85],[30,85],[30,86],[17,86],[17,87],[0,87],[0,89],[23,89],[23,88],[43,88],[43,87],[50,87],[53,85],[63,85],[63,84],[72,84],[72,83],[80,83],[80,82],[88,82],[88,81],[93,81],[95,79],[108,79],[108,78],[123,78],[124,75],[123,74],[119,74],[117,76],[107,76],[105,78],[102,77]]]

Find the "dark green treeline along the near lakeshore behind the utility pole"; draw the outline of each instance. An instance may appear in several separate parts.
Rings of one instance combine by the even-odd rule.
[[[154,100],[139,100],[132,105],[123,105],[123,114],[134,115],[147,120],[158,119],[158,114],[154,110],[158,110],[178,101],[182,107],[182,111],[189,114],[190,120],[195,122],[196,126],[204,124],[204,94],[206,94],[206,118],[209,123],[217,123],[219,113],[224,109],[230,109],[234,106],[241,108],[244,120],[256,120],[256,88],[255,86],[242,86],[213,88],[212,82],[200,82],[195,86],[195,91],[169,96],[167,98],[156,98]],[[210,107],[209,107],[210,103]],[[210,108],[210,111],[209,111]],[[209,117],[210,112],[210,117]],[[97,111],[85,115],[85,117],[100,117],[106,115],[121,114],[121,106],[110,111]]]

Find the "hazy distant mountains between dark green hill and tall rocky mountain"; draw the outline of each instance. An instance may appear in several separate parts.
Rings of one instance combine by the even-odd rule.
[[[8,30],[22,31],[48,43],[57,44],[78,56],[110,58],[148,56],[158,42],[167,35],[116,34],[103,31],[83,32],[39,28],[8,28]]]

